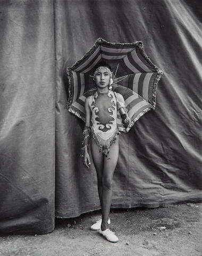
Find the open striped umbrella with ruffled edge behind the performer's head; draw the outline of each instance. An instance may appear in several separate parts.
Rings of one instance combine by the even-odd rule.
[[[85,99],[96,91],[92,79],[95,65],[105,61],[113,70],[112,90],[123,95],[132,125],[148,110],[155,109],[157,83],[163,74],[147,57],[141,41],[110,43],[98,38],[91,49],[72,67],[69,77],[68,110],[85,122]],[[125,131],[117,115],[120,131]]]

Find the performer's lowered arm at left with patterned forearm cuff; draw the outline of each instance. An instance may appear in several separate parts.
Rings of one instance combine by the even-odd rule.
[[[90,119],[91,119],[91,111],[89,108],[89,98],[85,100],[85,127],[83,129],[83,141],[81,154],[83,157],[83,164],[89,168],[90,165],[90,157],[88,154],[88,145],[90,141]]]

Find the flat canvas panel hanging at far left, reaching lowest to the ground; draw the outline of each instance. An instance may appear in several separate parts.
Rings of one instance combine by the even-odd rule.
[[[54,229],[52,1],[0,1],[0,233]]]

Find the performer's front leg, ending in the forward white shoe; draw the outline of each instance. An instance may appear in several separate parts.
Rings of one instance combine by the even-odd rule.
[[[119,137],[111,145],[109,157],[104,157],[102,173],[102,225],[101,229],[108,228],[108,218],[112,202],[112,181],[115,167],[119,157]]]

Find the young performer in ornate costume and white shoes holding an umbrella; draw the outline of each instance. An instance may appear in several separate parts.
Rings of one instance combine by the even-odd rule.
[[[119,129],[117,127],[117,111],[120,112],[125,127],[130,124],[124,99],[120,93],[112,90],[112,70],[105,62],[100,62],[94,72],[97,91],[85,101],[85,128],[83,130],[82,156],[83,164],[89,168],[90,157],[88,144],[90,141],[92,159],[98,179],[98,194],[102,208],[102,219],[91,226],[99,230],[110,242],[119,239],[108,228],[111,223],[110,207],[112,199],[112,180],[119,156]]]

